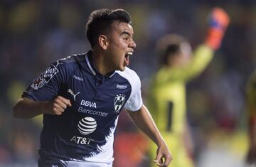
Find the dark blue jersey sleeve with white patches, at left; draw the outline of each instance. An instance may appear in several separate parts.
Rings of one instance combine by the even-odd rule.
[[[31,85],[23,92],[22,97],[27,97],[34,101],[53,99],[53,97],[58,95],[61,87],[64,86],[67,76],[67,64],[62,60],[58,60],[49,65],[46,70],[33,80]]]

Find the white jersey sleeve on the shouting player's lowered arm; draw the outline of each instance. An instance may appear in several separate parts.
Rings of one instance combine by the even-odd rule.
[[[129,82],[132,86],[132,92],[126,104],[124,105],[124,108],[131,112],[136,112],[142,107],[143,104],[141,81],[137,73],[133,70],[130,70],[130,78],[131,80],[129,80]]]

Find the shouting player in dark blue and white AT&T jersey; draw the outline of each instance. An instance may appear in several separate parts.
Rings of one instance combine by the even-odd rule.
[[[127,68],[136,44],[123,9],[93,11],[87,21],[91,50],[57,60],[23,92],[14,117],[43,114],[38,166],[112,166],[114,131],[124,107],[158,146],[155,162],[172,156],[146,109],[141,82]]]

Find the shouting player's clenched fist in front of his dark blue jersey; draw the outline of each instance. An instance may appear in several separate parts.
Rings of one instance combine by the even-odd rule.
[[[70,99],[58,96],[45,105],[46,114],[61,115],[67,107],[71,107]]]

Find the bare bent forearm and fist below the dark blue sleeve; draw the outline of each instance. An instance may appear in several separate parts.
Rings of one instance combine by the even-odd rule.
[[[55,97],[49,102],[35,102],[22,97],[14,105],[13,114],[17,118],[31,119],[40,114],[61,115],[67,107],[71,107],[70,100],[61,96]]]

